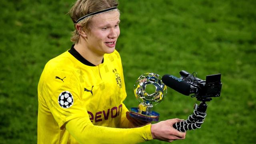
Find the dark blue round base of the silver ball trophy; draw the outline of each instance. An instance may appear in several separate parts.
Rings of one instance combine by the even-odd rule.
[[[158,122],[159,120],[159,114],[157,112],[152,111],[149,115],[140,114],[138,112],[138,108],[130,108],[130,116],[132,118],[144,120],[147,122]]]

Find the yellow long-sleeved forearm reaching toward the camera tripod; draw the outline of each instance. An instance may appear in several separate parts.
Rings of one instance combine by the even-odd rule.
[[[140,128],[109,128],[104,126],[94,126],[88,120],[76,118],[66,124],[68,132],[81,144],[135,144],[152,140],[151,125]]]

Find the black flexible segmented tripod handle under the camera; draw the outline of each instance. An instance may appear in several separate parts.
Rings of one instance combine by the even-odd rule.
[[[176,122],[172,126],[180,131],[186,132],[187,130],[195,130],[196,128],[201,128],[201,124],[204,122],[206,117],[207,104],[205,101],[198,104],[194,104],[194,113],[188,116],[188,119],[181,122]]]

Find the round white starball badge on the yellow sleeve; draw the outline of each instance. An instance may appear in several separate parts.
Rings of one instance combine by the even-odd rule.
[[[61,92],[58,98],[58,103],[62,108],[70,108],[74,103],[72,94],[69,91]]]

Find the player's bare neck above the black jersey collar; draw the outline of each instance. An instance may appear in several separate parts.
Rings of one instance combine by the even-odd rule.
[[[85,42],[79,41],[75,44],[74,48],[76,51],[81,54],[83,58],[88,60],[90,63],[94,64],[95,66],[98,66],[102,63],[103,55],[96,54],[92,50],[90,50]]]

